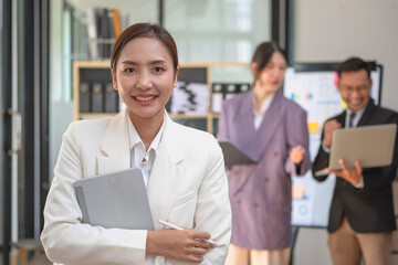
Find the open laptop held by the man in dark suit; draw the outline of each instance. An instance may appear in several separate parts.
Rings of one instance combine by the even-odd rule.
[[[362,168],[391,165],[396,134],[396,124],[336,129],[333,131],[328,168],[339,170],[339,159],[344,160],[347,168],[354,168],[356,160]],[[325,174],[324,170],[315,172],[315,176],[322,174]]]

